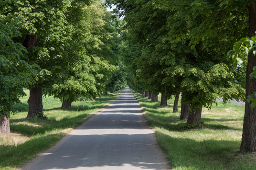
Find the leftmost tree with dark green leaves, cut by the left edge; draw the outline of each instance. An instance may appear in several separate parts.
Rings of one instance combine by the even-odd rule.
[[[35,66],[29,65],[26,59],[26,49],[21,43],[15,42],[21,37],[19,29],[23,22],[12,13],[12,6],[18,6],[16,1],[0,2],[0,132],[10,134],[10,113],[15,113],[13,105],[20,102],[24,96],[23,87],[33,83],[32,76],[36,74]]]

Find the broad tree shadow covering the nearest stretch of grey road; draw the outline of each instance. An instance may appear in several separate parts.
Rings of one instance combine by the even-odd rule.
[[[170,169],[154,149],[153,133],[67,135],[64,140],[57,149],[46,150],[21,169]]]

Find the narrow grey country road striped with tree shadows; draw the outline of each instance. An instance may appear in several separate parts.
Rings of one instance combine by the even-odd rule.
[[[169,170],[129,88],[22,170]]]

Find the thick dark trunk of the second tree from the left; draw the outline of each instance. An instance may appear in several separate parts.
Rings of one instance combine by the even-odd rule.
[[[32,88],[29,91],[29,112],[27,118],[35,116],[37,112],[43,112],[43,88]]]

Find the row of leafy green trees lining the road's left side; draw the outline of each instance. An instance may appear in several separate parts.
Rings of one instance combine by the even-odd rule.
[[[10,114],[24,88],[30,90],[27,118],[43,119],[43,95],[70,110],[76,100],[126,86],[122,22],[103,1],[6,0],[0,14],[0,132],[10,133]]]

